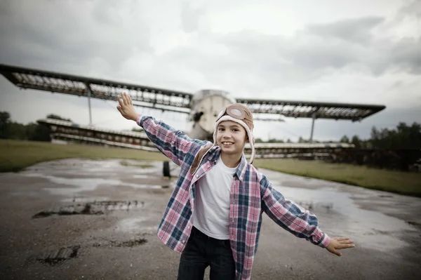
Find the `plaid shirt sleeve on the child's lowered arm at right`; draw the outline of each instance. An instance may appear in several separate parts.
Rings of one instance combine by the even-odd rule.
[[[263,175],[260,180],[262,211],[276,224],[297,237],[307,239],[317,246],[326,248],[330,237],[319,229],[319,220],[314,213],[285,199],[283,194],[272,187],[272,183]]]

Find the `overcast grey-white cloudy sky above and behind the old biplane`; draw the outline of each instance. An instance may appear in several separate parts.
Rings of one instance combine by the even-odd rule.
[[[368,138],[421,122],[421,1],[0,2],[0,63],[194,93],[386,105],[361,123],[316,121],[314,138]],[[93,124],[131,129],[115,102]],[[142,110],[177,128],[185,115]],[[20,91],[0,77],[0,111],[27,124],[59,114],[88,124],[88,100]],[[310,119],[258,121],[255,137],[309,138]]]

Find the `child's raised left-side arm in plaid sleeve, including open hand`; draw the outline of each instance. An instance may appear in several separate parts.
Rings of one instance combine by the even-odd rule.
[[[162,121],[156,121],[153,117],[138,114],[133,107],[131,97],[126,93],[123,93],[121,97],[117,96],[117,100],[119,101],[117,109],[121,116],[136,121],[139,126],[142,126],[147,137],[156,148],[178,166],[184,161],[185,154],[193,143],[201,145],[200,140],[192,140],[185,133],[175,130]]]

